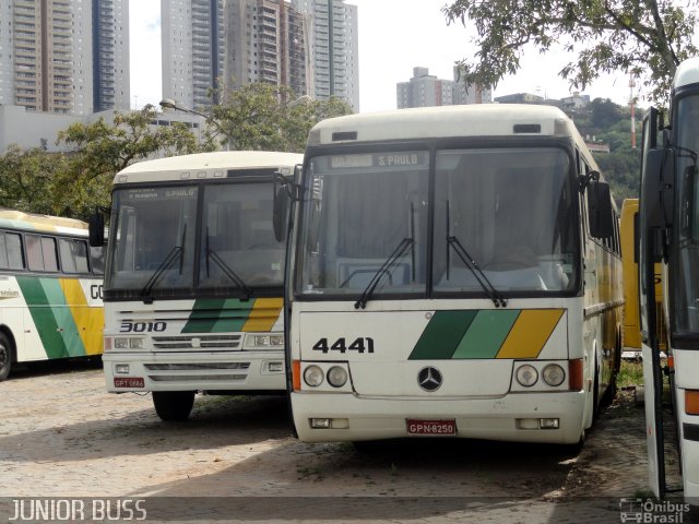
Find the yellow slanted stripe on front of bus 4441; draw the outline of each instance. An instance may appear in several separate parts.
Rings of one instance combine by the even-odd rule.
[[[524,309],[496,358],[536,358],[558,325],[562,309]]]

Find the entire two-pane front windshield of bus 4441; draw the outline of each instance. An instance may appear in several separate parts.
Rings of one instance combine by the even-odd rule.
[[[497,299],[577,289],[577,193],[564,150],[437,151],[433,194],[429,158],[428,151],[310,158],[299,295]]]

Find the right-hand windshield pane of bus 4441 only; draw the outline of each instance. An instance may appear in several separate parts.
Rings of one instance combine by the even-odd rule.
[[[481,291],[478,269],[498,291],[572,289],[569,182],[569,157],[558,148],[438,152],[435,291]]]

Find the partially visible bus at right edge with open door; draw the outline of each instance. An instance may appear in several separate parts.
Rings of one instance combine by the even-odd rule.
[[[661,395],[668,348],[685,500],[699,504],[699,58],[675,72],[670,126],[651,108],[643,120],[639,213],[640,307],[651,487],[667,491]],[[667,335],[657,330],[656,263],[662,264]],[[670,439],[668,439],[670,440]]]

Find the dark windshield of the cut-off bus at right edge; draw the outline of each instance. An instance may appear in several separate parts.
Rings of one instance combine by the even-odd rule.
[[[671,322],[676,335],[699,333],[699,96],[688,96],[677,104],[676,169],[679,188],[679,227],[677,257],[673,275],[674,300]]]

